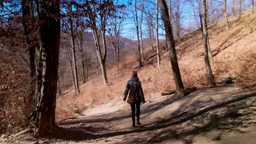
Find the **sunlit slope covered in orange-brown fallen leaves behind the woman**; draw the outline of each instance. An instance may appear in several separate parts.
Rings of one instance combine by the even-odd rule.
[[[225,30],[224,21],[218,21],[209,29],[213,74],[217,80],[232,77],[236,79],[235,85],[255,86],[256,14],[246,12],[241,17],[230,16],[229,21],[230,31]],[[161,68],[157,67],[156,57],[153,57],[155,51],[148,50],[145,54],[147,61],[141,69],[138,68],[137,56],[127,57],[125,61],[120,62],[118,75],[115,73],[114,64],[108,64],[108,87],[103,86],[101,75],[98,75],[80,86],[79,95],[71,89],[58,97],[57,120],[73,117],[74,107],[83,110],[86,107],[107,103],[111,99],[122,100],[132,70],[138,71],[146,99],[166,89],[174,89],[168,52],[164,50],[164,45],[160,47]],[[177,45],[177,55],[184,86],[207,85],[200,31],[185,35],[182,43]],[[118,107],[118,109],[124,108]]]

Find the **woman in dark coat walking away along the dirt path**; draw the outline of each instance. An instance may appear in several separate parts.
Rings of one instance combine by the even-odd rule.
[[[132,126],[135,127],[135,106],[136,106],[137,125],[141,125],[141,123],[139,122],[139,115],[141,113],[140,107],[141,107],[141,103],[145,103],[145,98],[142,91],[141,82],[139,81],[139,78],[138,78],[137,71],[132,71],[131,80],[127,82],[125,93],[124,93],[124,101],[126,100],[128,93],[129,93],[129,97],[127,99],[127,103],[131,105]]]

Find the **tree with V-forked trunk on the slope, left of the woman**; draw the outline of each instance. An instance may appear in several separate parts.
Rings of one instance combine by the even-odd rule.
[[[113,1],[86,1],[84,4],[79,5],[79,8],[84,10],[84,14],[87,17],[86,22],[94,36],[98,62],[101,66],[105,86],[107,86],[108,83],[106,74],[106,25],[108,25],[109,17],[115,16],[116,10],[121,7],[124,7],[124,5],[115,5]],[[100,36],[102,37],[103,55],[101,52]]]

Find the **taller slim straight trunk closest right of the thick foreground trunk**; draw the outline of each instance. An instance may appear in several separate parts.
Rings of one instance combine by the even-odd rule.
[[[72,5],[69,6],[69,12],[72,12]],[[70,32],[71,32],[71,47],[72,47],[75,87],[77,89],[77,92],[80,93],[79,83],[78,83],[78,74],[77,74],[77,57],[76,57],[76,53],[75,53],[75,38],[74,38],[74,30],[73,30],[73,20],[72,20],[71,16],[69,16],[69,24],[70,24]]]

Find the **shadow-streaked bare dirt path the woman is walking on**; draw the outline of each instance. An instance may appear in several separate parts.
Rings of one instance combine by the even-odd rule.
[[[102,111],[104,110],[104,111]],[[155,95],[141,105],[141,126],[132,127],[123,98],[57,123],[48,139],[29,134],[0,143],[255,143],[256,89],[229,85],[199,88],[182,97]]]

